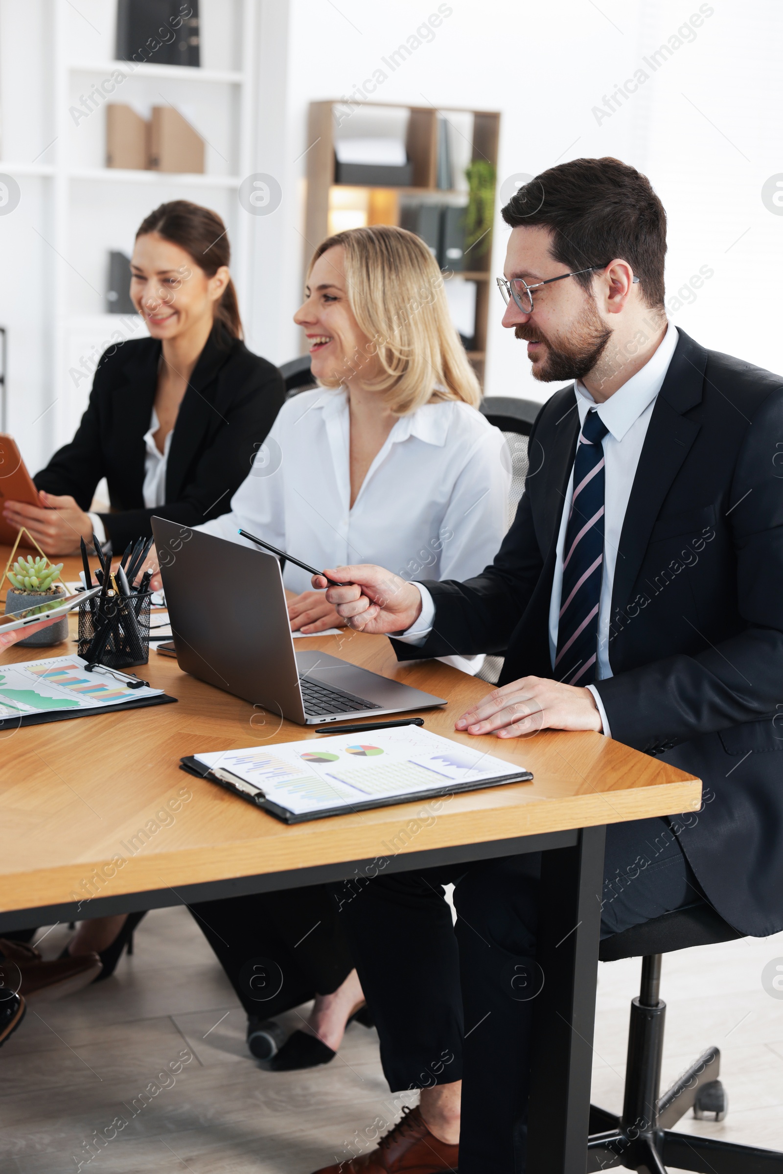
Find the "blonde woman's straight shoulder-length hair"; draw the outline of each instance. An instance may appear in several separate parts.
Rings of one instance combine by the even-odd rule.
[[[481,389],[448,312],[443,274],[424,241],[389,224],[352,228],[322,241],[308,276],[328,249],[342,248],[347,301],[370,343],[347,362],[339,386],[378,356],[380,373],[367,386],[385,393],[397,416],[423,404],[458,399],[478,407]]]

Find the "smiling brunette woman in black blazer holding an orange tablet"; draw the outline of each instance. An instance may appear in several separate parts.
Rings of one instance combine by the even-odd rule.
[[[283,378],[242,342],[220,216],[176,200],[141,224],[130,296],[150,337],[109,348],[70,444],[34,478],[46,508],[9,501],[47,554],[79,539],[121,554],[157,514],[196,526],[225,513],[284,399]],[[112,508],[90,514],[106,477]]]

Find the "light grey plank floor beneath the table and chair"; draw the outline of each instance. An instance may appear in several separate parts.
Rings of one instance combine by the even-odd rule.
[[[45,954],[66,939],[52,930]],[[664,960],[664,1081],[716,1044],[730,1099],[724,1122],[688,1118],[687,1132],[783,1149],[783,1000],[761,984],[778,956],[783,935]],[[635,960],[600,969],[593,1099],[608,1109],[621,1105],[637,984]],[[148,1088],[158,1091],[141,1098]],[[394,1114],[376,1034],[358,1024],[328,1067],[275,1074],[252,1061],[244,1014],[183,909],[150,913],[108,981],[33,1004],[0,1054],[0,1174],[66,1174],[80,1162],[107,1174],[310,1174],[359,1152],[357,1131],[372,1135]],[[115,1138],[90,1143],[117,1118],[127,1125]]]

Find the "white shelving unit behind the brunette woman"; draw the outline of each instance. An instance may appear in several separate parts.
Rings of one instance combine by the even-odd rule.
[[[25,0],[23,6],[0,0],[0,173],[19,181],[25,204],[25,214],[19,215],[20,207],[13,216],[0,217],[0,264],[4,251],[13,255],[19,245],[14,232],[26,232],[40,266],[35,362],[43,369],[39,389],[46,387],[42,402],[39,393],[39,403],[28,407],[12,393],[9,429],[34,467],[73,434],[92,386],[88,357],[117,330],[121,337],[144,333],[139,318],[106,312],[108,254],[129,254],[139,223],[158,203],[193,200],[223,217],[239,305],[249,304],[252,217],[239,208],[236,194],[244,176],[263,169],[254,167],[252,146],[258,8],[259,0],[201,0],[202,68],[131,68],[113,60],[116,0],[80,0],[77,6],[68,0]],[[16,61],[12,45],[26,45],[27,60]],[[31,67],[41,70],[45,60],[41,75],[32,79]],[[75,116],[74,109],[83,110],[81,96],[116,70],[126,80],[87,116]],[[35,88],[34,101],[20,96],[22,79],[25,93]],[[104,112],[110,102],[144,113],[154,104],[175,106],[204,139],[205,174],[104,167]],[[4,298],[0,303],[0,323],[9,328],[14,389],[18,346],[22,338],[29,346],[34,329],[28,319],[15,326],[13,304]]]

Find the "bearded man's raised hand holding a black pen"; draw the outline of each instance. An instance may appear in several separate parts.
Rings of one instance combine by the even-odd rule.
[[[418,587],[383,567],[364,564],[326,569],[325,574],[345,586],[330,587],[323,575],[313,575],[312,586],[328,588],[326,601],[335,606],[342,622],[356,632],[371,635],[405,632],[421,613]]]

